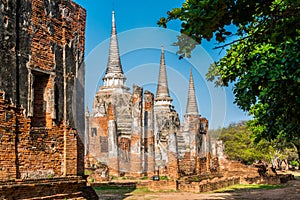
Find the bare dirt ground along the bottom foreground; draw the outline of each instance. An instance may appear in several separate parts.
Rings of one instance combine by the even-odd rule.
[[[129,192],[99,195],[99,199],[125,200],[198,200],[198,199],[284,199],[300,200],[300,173],[296,180],[287,182],[284,187],[276,189],[238,189],[222,193],[188,193],[188,192]]]

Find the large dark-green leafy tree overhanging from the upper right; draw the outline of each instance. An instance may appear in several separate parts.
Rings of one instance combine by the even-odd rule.
[[[254,116],[257,141],[285,138],[300,158],[300,1],[186,0],[158,24],[176,19],[180,57],[203,39],[222,43],[215,48],[227,48],[226,55],[207,79],[234,84],[235,103]]]

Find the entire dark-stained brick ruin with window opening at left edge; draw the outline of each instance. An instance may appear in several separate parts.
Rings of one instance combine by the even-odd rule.
[[[83,199],[86,10],[68,0],[0,9],[0,199]]]

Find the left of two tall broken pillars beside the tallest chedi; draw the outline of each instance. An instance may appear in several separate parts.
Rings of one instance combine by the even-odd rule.
[[[130,142],[130,174],[139,176],[142,174],[142,100],[143,89],[133,86],[132,98],[132,133]]]

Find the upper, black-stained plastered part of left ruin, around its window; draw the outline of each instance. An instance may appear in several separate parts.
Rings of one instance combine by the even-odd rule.
[[[0,89],[6,99],[32,116],[32,86],[51,77],[49,115],[57,123],[65,116],[74,127],[74,113],[84,114],[74,105],[83,104],[86,11],[66,0],[3,0],[0,9]]]

